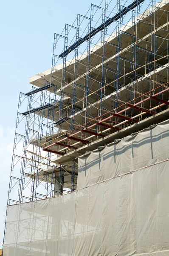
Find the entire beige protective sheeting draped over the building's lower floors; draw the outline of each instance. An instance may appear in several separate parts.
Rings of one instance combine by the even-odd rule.
[[[86,187],[8,207],[3,256],[168,256],[168,145],[163,122],[81,157]]]

